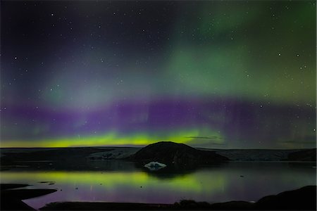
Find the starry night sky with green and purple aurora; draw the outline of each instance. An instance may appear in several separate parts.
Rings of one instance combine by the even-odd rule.
[[[316,147],[316,1],[1,1],[1,147]]]

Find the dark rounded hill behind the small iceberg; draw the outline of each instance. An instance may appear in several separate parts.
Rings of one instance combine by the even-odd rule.
[[[170,141],[161,141],[146,146],[135,155],[133,160],[150,162],[163,162],[168,165],[197,165],[211,164],[229,160],[225,156],[218,155],[213,151],[201,151],[183,143],[173,143]]]

